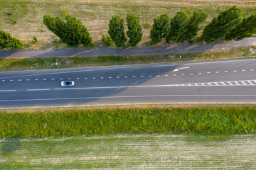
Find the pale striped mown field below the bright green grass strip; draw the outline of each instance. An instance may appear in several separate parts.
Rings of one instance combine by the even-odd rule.
[[[0,169],[255,169],[256,135],[116,134],[0,140]]]

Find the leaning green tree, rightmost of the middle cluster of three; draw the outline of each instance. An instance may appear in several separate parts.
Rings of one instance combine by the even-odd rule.
[[[198,31],[201,30],[201,28],[198,26],[206,21],[207,17],[208,13],[201,9],[194,11],[193,16],[188,20],[188,26],[186,26],[186,30],[181,33],[180,37],[178,38],[178,42],[184,42],[185,40],[192,42],[193,38],[195,38],[198,34]]]

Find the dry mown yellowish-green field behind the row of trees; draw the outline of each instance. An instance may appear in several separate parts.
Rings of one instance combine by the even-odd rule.
[[[191,15],[202,8],[209,14],[206,21],[209,23],[220,11],[230,6],[244,8],[245,16],[256,12],[256,1],[250,0],[0,0],[0,29],[23,40],[26,48],[63,47],[44,26],[43,15],[63,18],[65,14],[71,14],[87,26],[95,45],[104,47],[101,36],[107,34],[111,16],[118,14],[126,18],[127,13],[133,12],[139,15],[143,28],[144,35],[139,45],[146,45],[154,18],[162,13],[172,17],[177,11],[186,11]],[[33,36],[38,38],[38,43],[32,43]]]

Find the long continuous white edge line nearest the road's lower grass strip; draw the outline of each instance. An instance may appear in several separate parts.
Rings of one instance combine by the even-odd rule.
[[[152,95],[152,96],[107,96],[107,97],[84,97],[84,98],[34,98],[34,99],[14,99],[1,100],[0,102],[8,101],[56,101],[56,100],[79,100],[79,99],[95,99],[95,98],[144,98],[144,97],[219,97],[219,96],[256,96],[256,94],[210,94],[210,95]]]

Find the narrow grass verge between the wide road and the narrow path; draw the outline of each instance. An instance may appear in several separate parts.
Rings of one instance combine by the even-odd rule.
[[[74,67],[99,67],[126,64],[150,64],[161,62],[198,62],[200,60],[223,60],[255,55],[255,46],[233,47],[230,50],[188,52],[170,55],[98,56],[98,57],[6,57],[0,59],[0,72],[63,69]],[[174,56],[175,55],[175,56]],[[181,55],[181,58],[179,57]],[[173,57],[174,56],[174,57]],[[58,65],[56,65],[56,61]],[[67,63],[68,62],[68,63]]]

